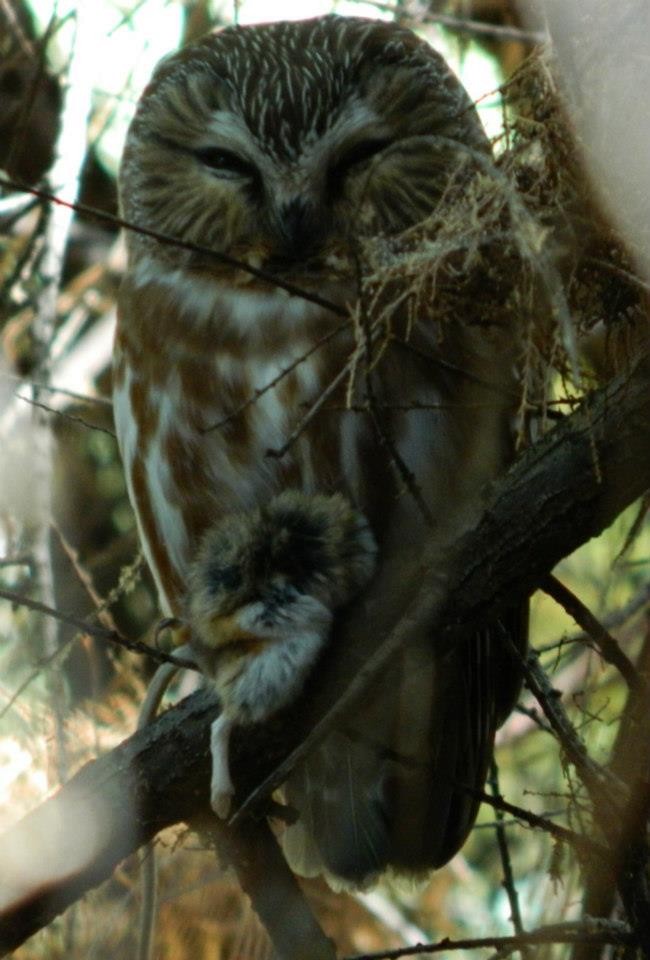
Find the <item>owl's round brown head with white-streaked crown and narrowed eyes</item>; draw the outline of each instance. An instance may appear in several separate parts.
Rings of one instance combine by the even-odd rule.
[[[123,212],[300,273],[423,220],[468,147],[487,141],[466,92],[409,30],[337,16],[228,27],[158,66],[127,139]]]

